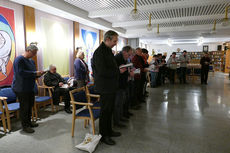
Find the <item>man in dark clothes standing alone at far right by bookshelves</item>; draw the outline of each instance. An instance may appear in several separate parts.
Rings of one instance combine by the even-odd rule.
[[[208,53],[205,52],[204,56],[200,60],[201,64],[201,84],[208,84],[208,71],[209,71],[209,64],[211,63],[211,60],[208,56]]]

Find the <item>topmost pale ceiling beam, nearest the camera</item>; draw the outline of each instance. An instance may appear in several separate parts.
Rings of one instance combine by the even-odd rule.
[[[161,11],[161,10],[169,10],[169,9],[178,9],[178,8],[186,8],[186,7],[200,7],[203,5],[213,5],[220,3],[229,3],[230,0],[184,0],[184,1],[171,1],[168,3],[160,3],[160,4],[151,4],[138,6],[137,9],[141,12],[150,12],[150,11]],[[118,16],[118,15],[127,15],[130,14],[133,7],[120,8],[120,9],[100,9],[97,11],[89,11],[90,18],[103,18],[110,16]]]

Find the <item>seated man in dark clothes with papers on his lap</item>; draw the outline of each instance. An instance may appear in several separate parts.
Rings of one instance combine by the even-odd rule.
[[[60,102],[60,96],[63,96],[63,101],[65,102],[66,113],[71,114],[70,110],[70,95],[69,88],[64,85],[66,81],[61,77],[60,74],[56,72],[56,67],[53,65],[49,66],[49,71],[44,76],[44,83],[47,86],[54,87],[53,102],[54,105],[58,105]]]

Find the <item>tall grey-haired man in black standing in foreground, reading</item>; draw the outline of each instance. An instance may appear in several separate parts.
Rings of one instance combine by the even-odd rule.
[[[107,31],[104,41],[96,49],[92,59],[95,90],[100,94],[101,112],[99,119],[99,133],[101,141],[108,145],[115,145],[111,137],[121,136],[120,132],[112,130],[112,113],[116,92],[119,85],[119,68],[112,48],[117,44],[118,34],[114,31]]]

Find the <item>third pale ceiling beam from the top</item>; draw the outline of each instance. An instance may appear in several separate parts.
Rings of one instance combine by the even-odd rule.
[[[185,27],[160,27],[160,35],[161,34],[167,34],[167,33],[176,33],[176,32],[197,32],[197,31],[203,31],[203,32],[210,32],[212,30],[213,24],[206,24],[206,25],[192,25],[192,26],[185,26]],[[222,29],[229,29],[230,27],[223,27],[220,24],[216,25],[217,32],[218,30]],[[142,29],[132,29],[126,31],[126,36],[128,38],[136,38],[136,37],[143,37],[145,35],[157,35],[157,29],[153,29],[153,31],[147,31],[146,28]]]

